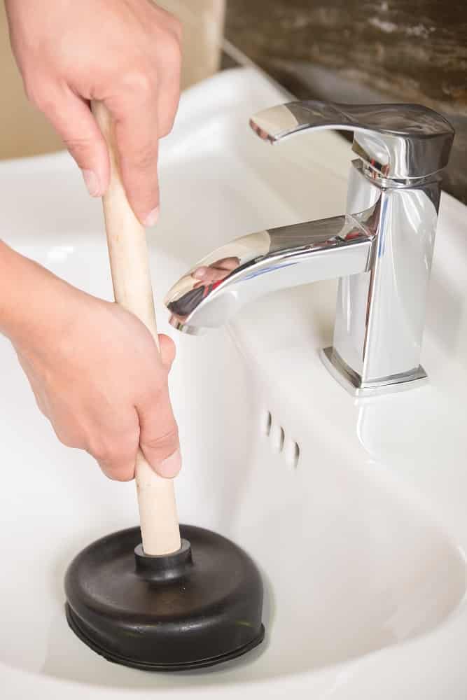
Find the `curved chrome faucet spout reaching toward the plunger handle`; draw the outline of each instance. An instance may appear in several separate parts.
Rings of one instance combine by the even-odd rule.
[[[378,207],[230,241],[169,290],[165,304],[170,323],[199,335],[223,325],[244,304],[270,291],[368,271]]]

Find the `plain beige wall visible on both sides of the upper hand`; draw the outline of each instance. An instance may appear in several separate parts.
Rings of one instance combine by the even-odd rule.
[[[159,4],[183,22],[182,86],[218,68],[225,0],[162,0]],[[62,148],[60,139],[30,106],[11,55],[4,3],[0,0],[0,158],[36,155]]]

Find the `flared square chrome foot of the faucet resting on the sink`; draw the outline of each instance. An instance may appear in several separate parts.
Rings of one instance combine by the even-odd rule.
[[[377,381],[362,381],[360,374],[347,365],[339,353],[331,346],[320,351],[326,369],[341,386],[356,397],[375,396],[396,391],[407,391],[426,384],[428,375],[421,365],[410,372],[382,377]]]

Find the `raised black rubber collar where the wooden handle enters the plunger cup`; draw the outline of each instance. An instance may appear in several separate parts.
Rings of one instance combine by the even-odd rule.
[[[134,547],[136,573],[146,581],[167,583],[188,574],[193,566],[191,545],[188,540],[181,540],[180,549],[170,554],[145,554],[143,545]]]

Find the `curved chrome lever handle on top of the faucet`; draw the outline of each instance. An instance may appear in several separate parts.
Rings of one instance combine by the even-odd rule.
[[[272,144],[310,129],[354,132],[353,151],[376,176],[424,178],[447,165],[454,129],[421,104],[335,104],[307,100],[258,112],[253,131]]]

